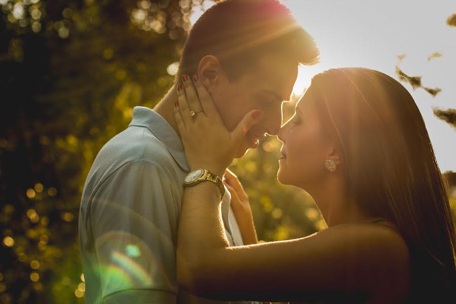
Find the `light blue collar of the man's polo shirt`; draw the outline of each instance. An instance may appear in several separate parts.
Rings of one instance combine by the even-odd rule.
[[[145,127],[163,142],[169,153],[182,168],[189,172],[190,168],[185,157],[182,140],[170,124],[156,111],[144,106],[133,108],[133,118],[130,126]]]

